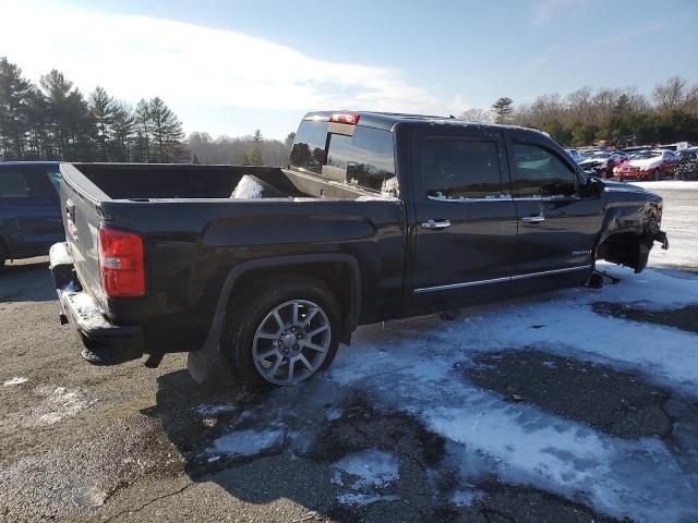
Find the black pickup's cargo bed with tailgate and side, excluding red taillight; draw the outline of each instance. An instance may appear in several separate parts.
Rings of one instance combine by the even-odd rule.
[[[72,293],[85,293],[94,302],[87,309],[115,327],[142,327],[134,337],[148,353],[201,348],[231,270],[272,257],[361,259],[363,289],[356,295],[365,291],[375,306],[362,315],[398,309],[406,239],[399,198],[268,167],[64,163],[61,173],[74,280],[67,276],[57,288],[65,289],[67,304]],[[101,227],[142,238],[145,295],[105,293]]]

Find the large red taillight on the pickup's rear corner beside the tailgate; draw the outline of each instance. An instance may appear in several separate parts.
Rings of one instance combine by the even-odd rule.
[[[143,240],[137,234],[99,227],[99,272],[108,296],[145,294]]]

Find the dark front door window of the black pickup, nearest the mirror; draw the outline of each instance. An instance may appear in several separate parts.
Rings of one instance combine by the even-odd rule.
[[[514,197],[571,196],[575,172],[555,154],[538,145],[514,144]]]

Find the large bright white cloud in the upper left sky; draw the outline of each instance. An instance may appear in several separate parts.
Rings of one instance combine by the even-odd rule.
[[[212,111],[447,107],[395,69],[316,60],[232,31],[46,2],[14,2],[2,11],[5,21],[27,22],[3,24],[0,53],[34,81],[59,69],[83,92],[101,85],[130,101],[158,95],[174,109],[200,104]]]

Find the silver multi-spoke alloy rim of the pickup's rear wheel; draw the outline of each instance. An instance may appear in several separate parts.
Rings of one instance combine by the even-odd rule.
[[[252,358],[270,384],[299,384],[322,366],[330,340],[329,319],[322,307],[292,300],[264,317],[254,333]]]

